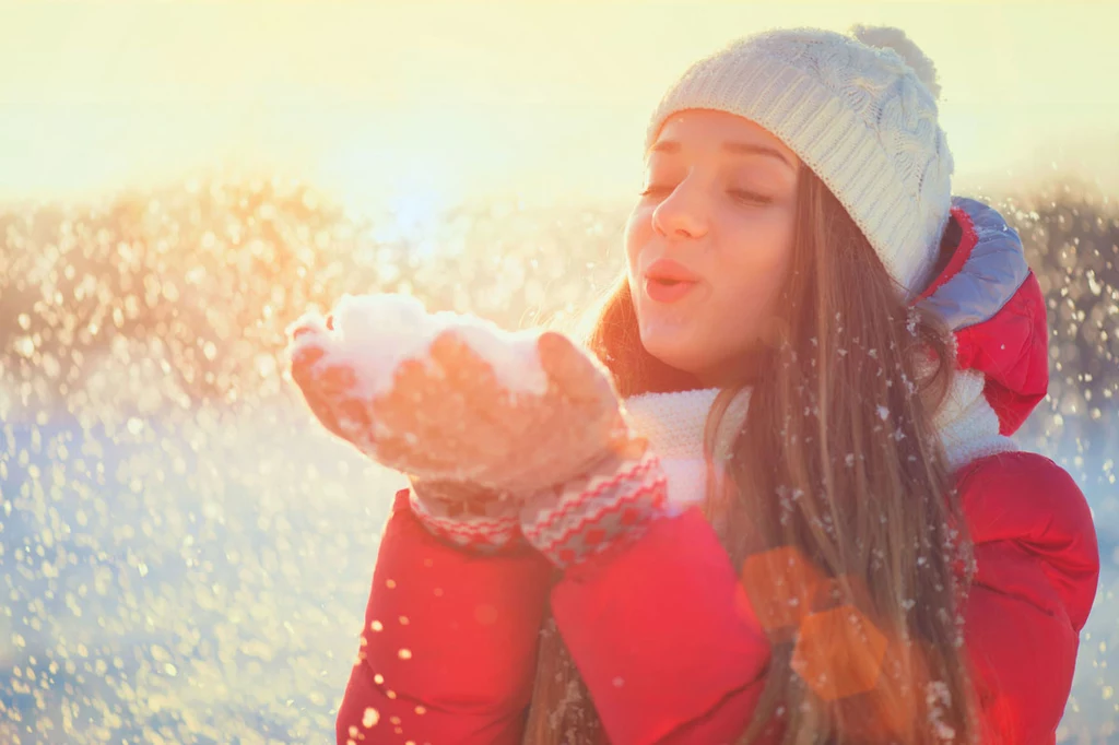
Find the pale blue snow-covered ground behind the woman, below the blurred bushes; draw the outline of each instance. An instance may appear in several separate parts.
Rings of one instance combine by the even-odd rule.
[[[2,437],[0,741],[331,742],[399,477],[284,402]],[[1119,509],[1087,491],[1106,569],[1062,742],[1119,742]]]

